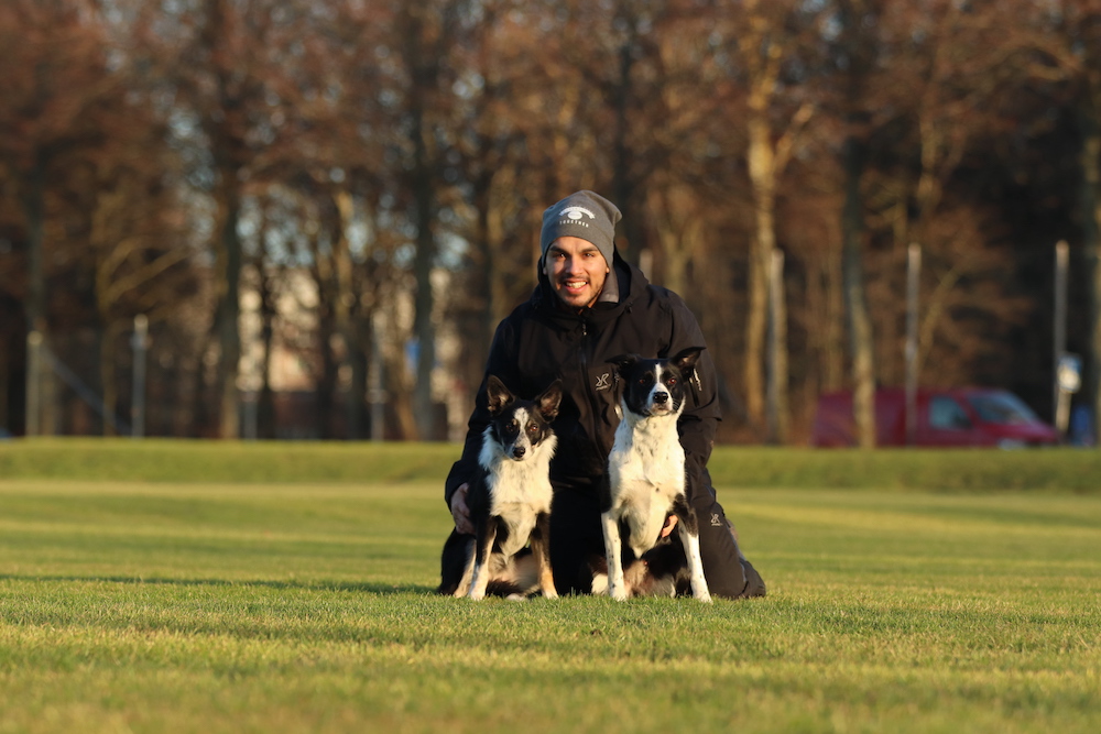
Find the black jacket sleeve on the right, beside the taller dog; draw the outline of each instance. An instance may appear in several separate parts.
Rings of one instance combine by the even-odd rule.
[[[689,347],[707,347],[699,322],[685,302],[672,294],[673,327],[669,335],[669,355],[674,355]],[[685,410],[680,415],[678,428],[680,445],[685,449],[685,470],[687,472],[687,500],[693,504],[704,500],[706,493],[715,499],[715,489],[710,486],[707,474],[707,462],[711,458],[715,446],[715,434],[721,417],[719,408],[718,379],[715,362],[707,349],[696,363],[696,374],[688,381],[688,393]]]

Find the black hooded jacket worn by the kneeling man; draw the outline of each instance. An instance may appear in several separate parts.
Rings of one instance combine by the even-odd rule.
[[[555,377],[563,381],[563,401],[553,425],[558,436],[550,464],[556,486],[591,486],[596,492],[607,472],[620,398],[609,359],[624,353],[669,357],[687,347],[706,346],[696,317],[678,295],[651,285],[642,271],[618,253],[612,272],[618,278],[619,303],[598,303],[580,313],[564,308],[541,273],[532,297],[501,321],[490,348],[486,376],[495,374],[524,397],[543,392]],[[705,468],[719,420],[719,401],[715,365],[706,351],[697,375],[698,380],[690,381],[679,421],[689,502],[700,492],[713,497]],[[455,490],[480,471],[478,453],[489,423],[486,376],[475,398],[462,457],[445,483],[448,505]]]

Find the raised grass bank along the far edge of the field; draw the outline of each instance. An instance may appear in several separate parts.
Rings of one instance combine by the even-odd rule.
[[[450,443],[103,440],[0,441],[0,478],[134,482],[442,482]],[[1101,495],[1101,451],[762,449],[720,446],[718,486],[974,492],[1031,490]]]

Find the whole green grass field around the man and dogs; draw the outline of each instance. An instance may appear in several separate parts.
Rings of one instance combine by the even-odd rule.
[[[0,732],[1101,731],[1093,452],[720,450],[702,605],[435,596],[455,450],[0,445]]]

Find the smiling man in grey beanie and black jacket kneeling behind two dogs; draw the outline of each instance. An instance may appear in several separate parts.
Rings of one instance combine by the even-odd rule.
[[[588,558],[604,550],[599,487],[619,424],[615,372],[607,360],[631,352],[668,357],[705,346],[684,300],[651,285],[642,271],[619,256],[614,228],[620,218],[615,205],[588,190],[571,194],[543,213],[538,285],[498,326],[486,365],[487,376],[495,374],[521,395],[536,395],[556,377],[563,381],[554,424],[558,448],[550,464],[550,562],[559,592],[589,592]],[[763,596],[764,582],[739,551],[707,472],[719,404],[715,365],[706,351],[697,374],[678,427],[708,588],[718,596]],[[460,533],[473,533],[467,483],[479,471],[488,423],[483,379],[462,457],[444,489]],[[671,518],[662,534],[668,535],[675,523]]]

